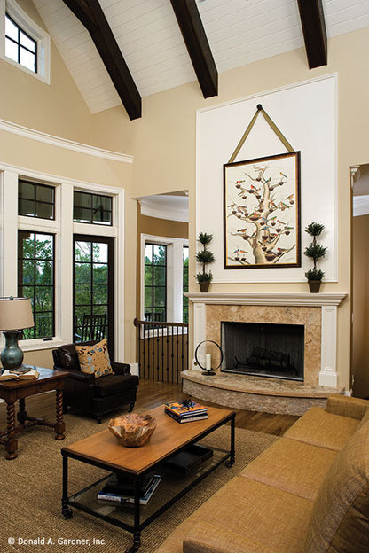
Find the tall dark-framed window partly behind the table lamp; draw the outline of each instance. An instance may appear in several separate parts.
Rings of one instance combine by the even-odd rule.
[[[18,231],[18,295],[31,298],[35,326],[23,339],[55,336],[55,237]]]

